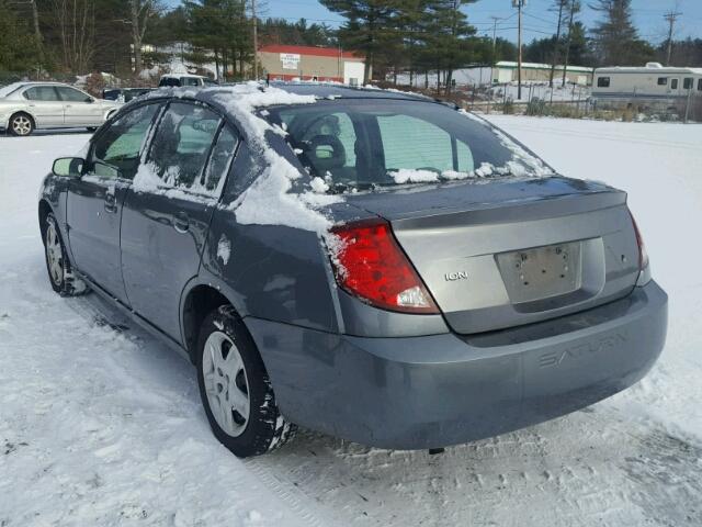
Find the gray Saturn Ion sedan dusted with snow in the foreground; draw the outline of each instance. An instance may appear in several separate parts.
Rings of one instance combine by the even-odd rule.
[[[634,384],[666,338],[624,192],[397,92],[155,91],[56,160],[38,220],[52,288],[192,361],[241,457],[295,425],[404,449],[502,434]]]

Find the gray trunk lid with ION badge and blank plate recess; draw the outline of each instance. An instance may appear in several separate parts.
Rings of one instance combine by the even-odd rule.
[[[562,177],[418,186],[348,202],[390,222],[448,324],[473,334],[629,294],[638,247],[626,194]]]

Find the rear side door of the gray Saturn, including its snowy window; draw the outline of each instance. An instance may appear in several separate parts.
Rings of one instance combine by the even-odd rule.
[[[179,341],[181,292],[199,272],[224,179],[217,160],[223,152],[231,158],[225,146],[237,137],[213,110],[171,102],[124,203],[122,273],[129,303]]]

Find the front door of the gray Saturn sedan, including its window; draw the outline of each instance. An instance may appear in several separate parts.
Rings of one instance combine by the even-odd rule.
[[[159,104],[138,106],[92,142],[84,173],[70,182],[68,240],[76,267],[123,303],[120,225],[126,191],[137,171],[146,134]]]

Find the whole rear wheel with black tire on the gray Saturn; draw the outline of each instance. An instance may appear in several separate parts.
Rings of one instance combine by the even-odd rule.
[[[231,306],[203,321],[196,366],[212,431],[235,456],[259,456],[294,436],[296,427],[278,410],[256,343]]]

